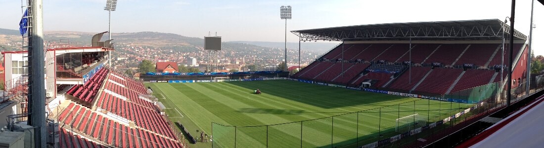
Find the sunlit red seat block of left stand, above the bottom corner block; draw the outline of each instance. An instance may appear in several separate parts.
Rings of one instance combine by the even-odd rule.
[[[69,128],[79,135],[95,141],[100,141],[109,147],[182,147],[181,144],[177,142],[175,136],[170,137],[173,135],[166,136],[166,134],[149,131],[140,126],[130,127],[129,125],[119,123],[116,119],[110,119],[107,115],[102,114],[103,113],[91,111],[85,106],[71,102],[59,115],[59,122],[61,123],[61,127]],[[142,114],[152,113],[147,112]],[[90,118],[81,120],[83,117]],[[155,124],[156,123],[147,123],[148,126],[156,126]],[[139,131],[139,134],[135,134],[136,132],[134,131]],[[145,133],[145,135],[143,133]],[[127,135],[137,137],[134,139],[127,138]],[[80,137],[77,139],[82,138]],[[140,143],[135,143],[136,140],[139,140]],[[142,141],[143,143],[141,143]],[[74,144],[77,144],[76,142],[78,141],[74,141]]]

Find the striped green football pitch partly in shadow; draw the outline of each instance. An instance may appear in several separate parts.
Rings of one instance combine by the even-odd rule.
[[[213,147],[356,147],[471,107],[290,80],[145,85],[172,123],[195,138],[197,130],[213,135]]]

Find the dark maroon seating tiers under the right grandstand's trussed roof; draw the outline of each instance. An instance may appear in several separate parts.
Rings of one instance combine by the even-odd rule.
[[[343,46],[339,44],[294,77],[352,87],[370,82],[374,88],[434,94],[461,91],[497,82],[501,78],[500,74],[494,76],[495,72],[491,70],[492,66],[502,63],[502,44],[498,43],[415,43],[411,50],[406,43],[354,43]],[[514,53],[519,54],[522,46],[515,44]],[[402,66],[410,58],[415,64],[411,67],[411,74]],[[432,69],[435,62],[441,65]],[[464,72],[461,69],[464,64],[472,64],[474,69],[468,68]],[[460,80],[456,81],[458,78]]]

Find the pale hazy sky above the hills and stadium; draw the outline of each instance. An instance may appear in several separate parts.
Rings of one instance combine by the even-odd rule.
[[[530,0],[517,1],[517,30],[529,35]],[[397,22],[499,19],[510,16],[508,0],[458,1],[175,1],[119,0],[112,12],[112,32],[157,31],[190,37],[217,32],[223,41],[285,40],[280,6],[293,7],[287,30]],[[108,30],[106,0],[45,0],[44,29],[102,32]],[[535,2],[533,49],[544,55],[544,6]],[[18,29],[21,1],[0,0],[0,28]],[[288,42],[298,37],[288,33]]]

